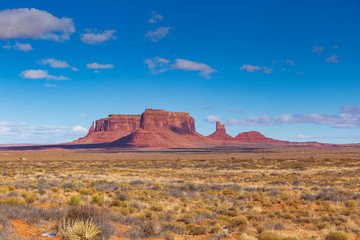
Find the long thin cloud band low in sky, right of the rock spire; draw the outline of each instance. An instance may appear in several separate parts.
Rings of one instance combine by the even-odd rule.
[[[284,114],[278,116],[248,116],[245,119],[229,119],[229,125],[239,126],[275,126],[295,123],[330,125],[333,128],[356,128],[360,125],[360,106],[347,105],[339,114]]]

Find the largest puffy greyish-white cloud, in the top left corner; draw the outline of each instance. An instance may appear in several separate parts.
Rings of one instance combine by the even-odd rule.
[[[0,39],[45,39],[64,41],[75,32],[71,18],[57,18],[35,8],[6,9],[0,12]]]

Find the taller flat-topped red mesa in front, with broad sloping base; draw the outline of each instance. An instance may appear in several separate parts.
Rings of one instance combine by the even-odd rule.
[[[199,147],[213,143],[195,132],[195,120],[189,113],[146,109],[140,127],[111,143],[119,147],[177,148]]]

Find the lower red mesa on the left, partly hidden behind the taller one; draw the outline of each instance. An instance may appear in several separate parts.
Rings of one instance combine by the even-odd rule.
[[[140,126],[140,115],[111,114],[107,118],[96,121],[89,133],[72,144],[112,142],[129,135]]]

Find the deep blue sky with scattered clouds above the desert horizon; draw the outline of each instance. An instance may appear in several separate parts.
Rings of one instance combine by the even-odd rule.
[[[0,143],[189,112],[208,135],[360,142],[360,1],[0,3]]]

